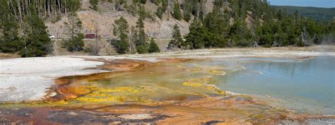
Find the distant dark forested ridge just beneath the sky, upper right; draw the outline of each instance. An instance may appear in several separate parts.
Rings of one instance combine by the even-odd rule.
[[[287,11],[290,14],[298,11],[302,16],[312,17],[317,21],[332,20],[335,17],[335,8],[317,8],[317,7],[300,7],[300,6],[274,6],[277,9]]]

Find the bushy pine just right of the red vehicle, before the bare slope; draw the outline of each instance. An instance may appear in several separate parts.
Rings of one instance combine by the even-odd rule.
[[[128,37],[129,25],[127,20],[123,17],[120,17],[119,19],[114,20],[113,25],[113,34],[119,37],[119,42],[114,44],[114,47],[116,47],[119,54],[126,54],[129,52],[130,46]]]

